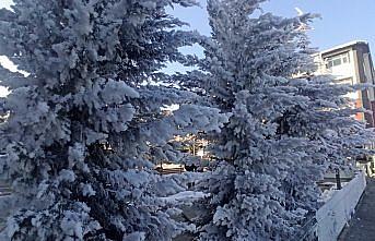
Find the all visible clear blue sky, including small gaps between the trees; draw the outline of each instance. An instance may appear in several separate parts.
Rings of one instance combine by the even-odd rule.
[[[209,35],[206,0],[200,0],[200,3],[201,8],[176,8],[171,12],[189,23],[191,29]],[[11,0],[0,0],[0,8],[9,8]],[[312,47],[324,50],[352,40],[366,40],[370,43],[372,56],[375,56],[374,0],[270,0],[262,8],[265,12],[282,16],[296,15],[295,8],[304,12],[318,13],[321,19],[315,20],[314,29],[308,33]],[[198,47],[184,51],[201,55]],[[1,58],[0,62],[3,63]],[[171,68],[178,69],[173,65]]]

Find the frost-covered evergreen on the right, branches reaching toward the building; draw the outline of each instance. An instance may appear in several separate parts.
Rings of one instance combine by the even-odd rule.
[[[202,72],[186,83],[231,115],[211,136],[219,161],[200,184],[212,194],[211,213],[197,220],[201,240],[291,239],[317,208],[316,181],[329,162],[368,141],[351,118],[359,110],[340,96],[352,87],[292,79],[314,70],[301,28],[314,15],[257,13],[261,2],[208,1],[212,39],[202,43]]]

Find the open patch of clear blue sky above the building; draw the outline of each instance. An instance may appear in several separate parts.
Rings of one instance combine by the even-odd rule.
[[[314,22],[309,32],[312,45],[320,50],[351,40],[366,40],[375,52],[374,0],[273,0],[266,7],[285,16],[295,14],[295,7],[320,14],[321,19]]]

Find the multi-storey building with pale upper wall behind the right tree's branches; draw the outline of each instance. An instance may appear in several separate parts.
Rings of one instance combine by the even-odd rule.
[[[324,50],[314,56],[317,74],[329,74],[337,83],[360,84],[375,83],[374,65],[366,41],[351,41]],[[350,94],[356,107],[375,110],[375,88]],[[375,126],[374,113],[359,113],[356,118],[366,122],[367,128]]]

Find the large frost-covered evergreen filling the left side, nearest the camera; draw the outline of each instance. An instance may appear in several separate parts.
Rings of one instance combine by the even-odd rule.
[[[160,198],[180,188],[152,161],[178,157],[173,135],[219,130],[225,116],[148,84],[195,40],[174,29],[173,4],[195,1],[14,0],[0,11],[0,55],[27,72],[1,68],[1,177],[13,189],[2,240],[161,241],[186,229]],[[171,104],[180,108],[164,115]]]

